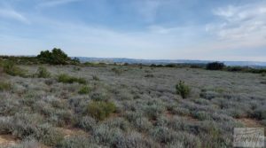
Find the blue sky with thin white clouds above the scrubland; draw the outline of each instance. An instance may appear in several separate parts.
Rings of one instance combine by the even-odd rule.
[[[0,55],[266,61],[266,0],[0,0]]]

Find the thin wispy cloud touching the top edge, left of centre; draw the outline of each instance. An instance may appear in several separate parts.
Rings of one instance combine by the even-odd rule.
[[[62,4],[70,4],[74,2],[78,2],[81,0],[49,0],[49,1],[43,1],[40,4],[37,4],[37,8],[45,8],[45,7],[55,7]]]

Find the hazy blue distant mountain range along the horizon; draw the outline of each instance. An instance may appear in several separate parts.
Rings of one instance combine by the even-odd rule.
[[[212,60],[187,60],[187,59],[136,59],[136,58],[87,58],[77,57],[81,62],[103,62],[103,63],[129,63],[129,64],[157,64],[166,65],[174,64],[207,64],[214,62]],[[253,67],[266,67],[266,62],[256,61],[220,61],[226,66],[253,66]]]

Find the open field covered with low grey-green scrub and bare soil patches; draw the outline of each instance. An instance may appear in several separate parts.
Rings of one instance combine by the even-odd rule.
[[[43,67],[51,73],[48,78],[0,75],[3,147],[231,147],[233,128],[266,128],[263,74],[150,66]],[[38,66],[20,68],[35,74]],[[86,82],[60,82],[59,74]],[[187,98],[176,94],[179,81],[191,88]],[[105,107],[112,106],[106,102],[113,108]],[[91,105],[110,113],[98,116],[102,111]]]

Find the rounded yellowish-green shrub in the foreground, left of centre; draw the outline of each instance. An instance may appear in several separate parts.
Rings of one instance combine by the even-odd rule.
[[[93,118],[103,121],[111,113],[114,113],[116,106],[112,102],[92,101],[88,105],[88,113]]]

